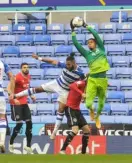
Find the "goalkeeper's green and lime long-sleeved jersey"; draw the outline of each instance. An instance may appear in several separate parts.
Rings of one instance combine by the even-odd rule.
[[[93,34],[96,40],[96,43],[98,45],[96,50],[84,49],[82,45],[78,43],[75,32],[72,32],[73,44],[80,52],[80,54],[85,57],[88,66],[90,68],[90,74],[98,74],[101,72],[106,72],[109,70],[110,66],[106,57],[103,41],[101,40],[100,36],[94,29],[92,29],[89,26],[87,26],[87,29]]]

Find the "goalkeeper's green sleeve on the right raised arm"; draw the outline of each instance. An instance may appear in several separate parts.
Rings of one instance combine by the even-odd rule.
[[[87,26],[87,29],[88,29],[89,32],[91,32],[93,34],[99,48],[102,49],[103,51],[105,51],[103,41],[100,38],[99,34],[92,27]]]

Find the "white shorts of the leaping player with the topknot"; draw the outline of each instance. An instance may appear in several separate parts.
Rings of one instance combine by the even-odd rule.
[[[56,80],[42,84],[41,87],[46,92],[58,93],[59,97],[57,101],[66,104],[69,91],[63,89]]]

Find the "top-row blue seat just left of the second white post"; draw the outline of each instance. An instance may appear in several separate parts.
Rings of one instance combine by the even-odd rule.
[[[29,23],[45,23],[46,21],[46,14],[40,12],[31,13],[29,17]]]

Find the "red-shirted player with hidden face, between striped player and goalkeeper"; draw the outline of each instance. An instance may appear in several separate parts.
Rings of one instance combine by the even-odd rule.
[[[82,154],[86,153],[86,148],[88,145],[90,129],[89,126],[80,111],[80,103],[82,98],[85,98],[84,89],[86,87],[86,81],[81,80],[74,82],[70,85],[70,92],[67,98],[67,108],[65,109],[65,114],[67,117],[68,126],[72,128],[69,132],[62,148],[60,154],[65,154],[67,146],[71,143],[73,138],[77,135],[79,128],[83,130],[82,136]]]

